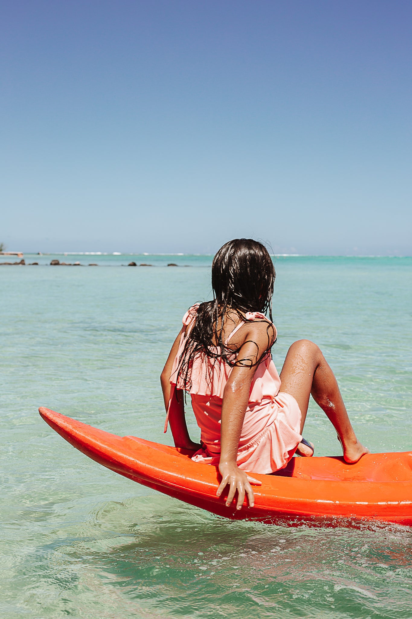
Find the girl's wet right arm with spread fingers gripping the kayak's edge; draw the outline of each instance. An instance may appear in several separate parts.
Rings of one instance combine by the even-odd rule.
[[[275,332],[273,339],[274,335]],[[232,503],[236,491],[238,492],[237,509],[242,509],[245,493],[248,495],[250,507],[253,507],[254,495],[250,484],[261,485],[261,482],[238,468],[237,452],[246,407],[249,402],[250,386],[256,368],[258,368],[257,365],[250,367],[250,363],[256,363],[256,360],[267,349],[267,336],[267,323],[259,322],[250,325],[250,330],[245,334],[245,344],[243,344],[238,353],[240,365],[232,368],[224,389],[221,422],[221,459],[219,462],[222,482],[216,494],[221,496],[224,488],[229,484],[229,495],[226,500],[227,507]]]

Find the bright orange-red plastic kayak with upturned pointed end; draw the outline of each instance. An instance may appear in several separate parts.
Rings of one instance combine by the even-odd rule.
[[[92,460],[134,482],[230,519],[356,526],[359,521],[412,525],[412,452],[367,454],[356,464],[342,457],[293,457],[286,469],[253,476],[255,504],[240,511],[217,498],[219,471],[193,462],[193,452],[117,436],[39,409],[44,421]]]

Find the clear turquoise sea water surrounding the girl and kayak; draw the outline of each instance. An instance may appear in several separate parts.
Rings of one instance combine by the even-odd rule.
[[[120,267],[130,259],[154,266]],[[185,309],[210,295],[211,258],[25,260],[43,264],[0,268],[1,617],[412,616],[409,529],[225,521],[99,467],[38,416],[44,405],[171,443],[158,377]],[[276,268],[278,368],[293,340],[313,339],[359,438],[374,452],[412,449],[412,259]],[[305,436],[318,455],[340,454],[314,404]]]

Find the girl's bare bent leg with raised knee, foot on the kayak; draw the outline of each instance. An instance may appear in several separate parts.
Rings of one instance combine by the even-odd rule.
[[[361,456],[369,453],[355,436],[334,373],[316,344],[309,340],[299,340],[292,344],[286,355],[280,380],[281,390],[298,402],[302,413],[300,431],[303,430],[309,396],[312,395],[334,425],[342,442],[345,461],[357,462]],[[305,453],[305,449],[308,450],[302,446],[301,451]]]

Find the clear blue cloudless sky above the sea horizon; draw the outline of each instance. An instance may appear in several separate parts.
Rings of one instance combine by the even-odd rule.
[[[410,0],[13,0],[0,241],[412,255]]]

